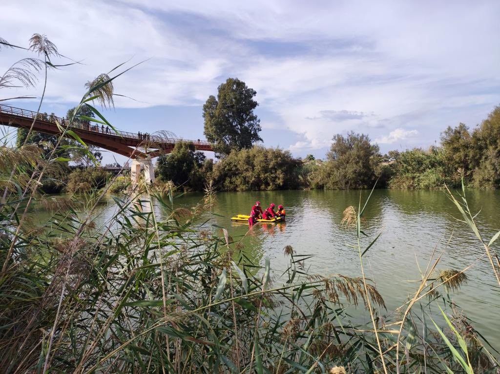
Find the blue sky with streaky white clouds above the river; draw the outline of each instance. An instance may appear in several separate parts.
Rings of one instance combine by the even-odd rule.
[[[46,34],[80,61],[49,71],[42,111],[63,115],[86,81],[142,61],[113,82],[128,96],[103,110],[117,128],[202,139],[203,103],[237,77],[257,92],[263,145],[323,158],[336,133],[367,133],[383,153],[478,124],[500,103],[499,16],[497,0],[18,0],[0,3],[0,37]],[[0,73],[28,54],[2,48]],[[0,99],[39,98],[39,78]]]

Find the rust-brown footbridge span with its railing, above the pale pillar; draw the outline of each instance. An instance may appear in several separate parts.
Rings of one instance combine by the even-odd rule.
[[[13,127],[29,128],[36,118],[33,130],[49,134],[59,134],[60,128],[66,128],[69,123],[65,118],[54,115],[36,114],[32,110],[0,105],[0,124]],[[127,157],[157,156],[172,151],[175,143],[189,141],[198,150],[212,150],[208,141],[186,140],[150,134],[146,139],[139,138],[138,133],[112,130],[100,123],[81,123],[73,121],[68,127],[73,130],[85,143],[92,144]],[[137,148],[142,148],[139,150]]]

